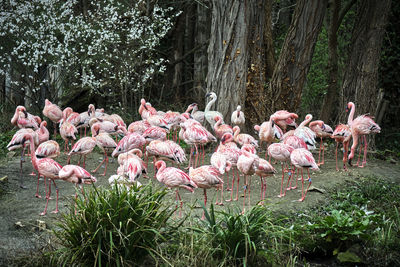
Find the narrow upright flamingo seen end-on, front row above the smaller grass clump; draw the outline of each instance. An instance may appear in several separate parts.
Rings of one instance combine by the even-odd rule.
[[[250,205],[250,183],[247,180],[247,176],[253,175],[259,165],[260,158],[251,153],[247,147],[243,147],[241,149],[241,155],[237,161],[238,170],[244,175],[244,198],[243,198],[243,210],[245,211],[245,203],[246,203],[246,192],[249,192],[249,205]]]

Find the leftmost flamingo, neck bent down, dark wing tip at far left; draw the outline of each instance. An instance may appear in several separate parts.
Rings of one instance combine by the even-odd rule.
[[[20,159],[20,164],[19,164],[19,170],[20,170],[20,184],[19,186],[21,188],[26,188],[23,184],[22,180],[22,163],[25,162],[24,160],[24,153],[25,153],[25,147],[26,145],[29,145],[29,139],[25,137],[26,134],[31,134],[34,139],[34,146],[39,144],[39,137],[35,131],[29,128],[22,128],[18,130],[13,137],[11,138],[11,141],[7,145],[8,151],[13,151],[16,149],[21,149],[21,159]],[[34,152],[35,150],[33,150]]]

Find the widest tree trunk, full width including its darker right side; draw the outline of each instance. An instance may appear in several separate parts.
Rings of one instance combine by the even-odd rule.
[[[266,1],[213,1],[207,88],[217,94],[213,109],[227,122],[237,105],[245,110],[247,125],[265,118],[267,6]]]

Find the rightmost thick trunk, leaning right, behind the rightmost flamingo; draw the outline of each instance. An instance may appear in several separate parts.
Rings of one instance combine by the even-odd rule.
[[[340,105],[344,110],[349,101],[354,102],[356,116],[376,112],[378,68],[390,4],[391,0],[359,2]],[[346,118],[347,114],[342,112],[341,121]]]

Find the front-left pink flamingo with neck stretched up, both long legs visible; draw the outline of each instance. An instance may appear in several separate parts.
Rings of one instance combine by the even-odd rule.
[[[60,179],[58,176],[58,173],[60,172],[62,166],[59,163],[57,163],[55,160],[50,159],[50,158],[42,158],[42,159],[36,158],[35,145],[33,143],[32,135],[25,134],[24,138],[28,139],[30,142],[32,165],[39,173],[38,175],[42,175],[44,177],[45,185],[46,185],[46,178],[49,178],[51,180],[49,182],[49,190],[47,190],[47,195],[46,195],[46,199],[47,199],[46,207],[44,208],[44,211],[40,215],[46,215],[46,213],[47,213],[47,206],[49,204],[49,199],[50,199],[50,195],[51,195],[51,182],[53,182],[54,187],[56,188],[56,192],[57,192],[56,209],[52,213],[58,213],[58,188],[57,188],[55,180]]]

